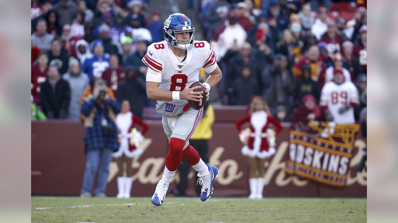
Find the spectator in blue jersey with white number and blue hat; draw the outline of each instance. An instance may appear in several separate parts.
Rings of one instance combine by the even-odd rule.
[[[94,77],[101,77],[102,72],[108,67],[109,54],[104,54],[102,40],[95,40],[93,44],[93,54],[86,58],[82,65],[83,73],[88,75],[91,82]]]

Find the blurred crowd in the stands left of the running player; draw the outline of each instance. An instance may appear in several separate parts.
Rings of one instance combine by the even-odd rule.
[[[149,44],[164,39],[160,11],[145,6],[145,0],[31,0],[32,108],[49,119],[80,119],[85,98],[103,80],[109,98],[129,101],[142,117],[154,102],[146,97],[141,59]],[[43,119],[36,113],[32,119]]]

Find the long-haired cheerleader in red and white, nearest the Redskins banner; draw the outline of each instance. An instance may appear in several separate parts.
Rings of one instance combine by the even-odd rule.
[[[242,130],[242,125],[247,122],[248,130]],[[268,129],[269,123],[274,125],[275,132]],[[250,104],[250,114],[238,120],[236,128],[244,143],[242,154],[248,158],[249,163],[249,198],[261,199],[264,188],[264,163],[276,152],[275,135],[282,130],[282,126],[271,116],[267,102],[261,97],[256,97]]]

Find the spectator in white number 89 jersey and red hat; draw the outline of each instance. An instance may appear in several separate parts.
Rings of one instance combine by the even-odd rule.
[[[322,88],[319,104],[326,121],[355,123],[353,107],[359,104],[358,90],[351,81],[345,81],[341,69],[334,69],[334,79]]]

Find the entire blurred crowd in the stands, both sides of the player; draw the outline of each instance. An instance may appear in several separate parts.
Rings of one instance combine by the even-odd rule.
[[[201,30],[217,53],[222,104],[248,105],[259,95],[274,117],[288,122],[304,96],[314,96],[318,104],[324,85],[341,70],[345,81],[357,87],[355,120],[361,119],[367,86],[366,1],[178,3],[196,12],[191,19],[197,32]],[[80,119],[85,97],[101,79],[109,98],[129,101],[131,112],[142,117],[144,106],[153,106],[154,101],[146,97],[147,67],[141,59],[149,44],[164,39],[167,16],[159,10],[148,12],[147,4],[156,2],[31,0],[35,110],[50,119]]]

